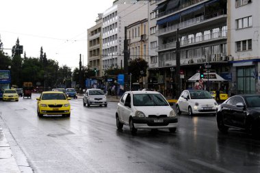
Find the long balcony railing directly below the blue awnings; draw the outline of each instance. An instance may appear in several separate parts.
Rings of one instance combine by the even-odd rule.
[[[209,14],[207,16],[198,16],[196,18],[192,18],[192,19],[184,21],[182,23],[178,23],[176,25],[172,25],[170,27],[166,27],[166,28],[163,28],[163,29],[159,29],[158,35],[160,36],[160,35],[172,32],[172,31],[177,31],[178,28],[183,28],[183,27],[187,27],[189,25],[194,25],[196,23],[201,23],[201,22],[209,20],[211,18],[221,16],[223,14],[224,14],[224,10],[220,10],[218,12],[213,12],[212,14]]]

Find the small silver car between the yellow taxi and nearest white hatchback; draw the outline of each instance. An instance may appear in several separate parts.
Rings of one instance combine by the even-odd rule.
[[[83,106],[104,105],[107,107],[107,96],[101,89],[88,89],[83,97]]]

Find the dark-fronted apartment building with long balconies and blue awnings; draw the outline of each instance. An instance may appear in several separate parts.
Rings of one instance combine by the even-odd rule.
[[[193,88],[189,81],[200,66],[222,75],[229,72],[227,58],[227,1],[157,1],[158,69],[157,90],[172,95],[176,81],[177,39],[180,42],[181,88]],[[178,31],[178,32],[177,32]],[[206,66],[205,66],[206,65]],[[216,75],[208,75],[209,78]],[[156,83],[153,83],[154,85]],[[174,87],[174,86],[173,86]],[[208,90],[227,90],[229,82],[207,82]]]

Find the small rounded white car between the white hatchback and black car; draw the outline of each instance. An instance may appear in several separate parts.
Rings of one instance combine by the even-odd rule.
[[[218,103],[206,90],[184,90],[176,103],[177,114],[216,114]]]

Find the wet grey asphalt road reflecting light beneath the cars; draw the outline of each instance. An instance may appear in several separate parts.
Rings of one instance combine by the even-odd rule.
[[[131,135],[129,127],[116,129],[116,103],[88,108],[78,98],[70,118],[38,118],[37,96],[0,101],[11,148],[21,148],[34,172],[260,172],[260,140],[219,133],[215,116],[181,115],[176,133]]]

